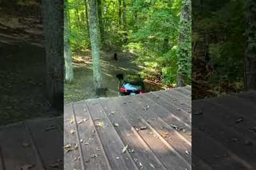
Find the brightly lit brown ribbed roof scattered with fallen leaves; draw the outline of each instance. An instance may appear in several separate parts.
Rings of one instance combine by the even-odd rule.
[[[191,169],[190,87],[64,108],[64,169]]]

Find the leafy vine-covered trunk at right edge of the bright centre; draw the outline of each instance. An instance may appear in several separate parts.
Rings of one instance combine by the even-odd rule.
[[[191,0],[181,1],[177,85],[185,86],[191,61]]]

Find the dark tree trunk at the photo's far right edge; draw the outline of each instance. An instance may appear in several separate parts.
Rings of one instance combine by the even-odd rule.
[[[256,2],[246,2],[246,52],[245,52],[245,89],[256,89]]]

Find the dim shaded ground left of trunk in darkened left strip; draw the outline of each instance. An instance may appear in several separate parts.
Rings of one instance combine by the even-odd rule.
[[[0,125],[55,115],[44,92],[44,48],[0,43],[0,56]]]

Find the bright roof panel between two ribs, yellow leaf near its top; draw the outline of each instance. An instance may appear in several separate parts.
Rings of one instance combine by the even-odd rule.
[[[129,152],[122,153],[122,148],[124,148],[127,143],[123,143],[114,126],[108,120],[106,115],[102,113],[102,108],[100,107],[98,100],[86,101],[86,104],[94,124],[97,125],[102,123],[102,125],[106,125],[106,128],[96,126],[96,130],[102,145],[105,148],[111,168],[124,170],[139,169]]]

